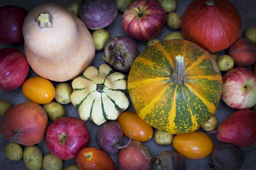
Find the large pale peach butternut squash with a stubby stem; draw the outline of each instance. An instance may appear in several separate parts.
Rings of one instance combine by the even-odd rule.
[[[91,33],[77,16],[54,3],[36,6],[23,22],[24,50],[31,68],[52,81],[81,75],[94,58]]]

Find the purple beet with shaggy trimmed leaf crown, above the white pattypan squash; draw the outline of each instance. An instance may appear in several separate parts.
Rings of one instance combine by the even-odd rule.
[[[139,53],[139,48],[131,37],[116,36],[105,45],[103,59],[115,70],[126,73]]]

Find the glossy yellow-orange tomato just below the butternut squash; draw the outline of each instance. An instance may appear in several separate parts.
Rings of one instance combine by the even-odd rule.
[[[50,80],[42,77],[31,77],[22,84],[22,93],[30,101],[46,104],[53,100],[55,88]]]

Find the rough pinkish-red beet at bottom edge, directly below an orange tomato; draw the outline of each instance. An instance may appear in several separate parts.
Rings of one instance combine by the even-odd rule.
[[[152,154],[141,142],[132,140],[130,145],[118,153],[119,170],[140,169],[151,167]]]

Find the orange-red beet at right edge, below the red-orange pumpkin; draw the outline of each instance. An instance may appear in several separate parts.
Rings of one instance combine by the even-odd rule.
[[[256,62],[256,45],[245,38],[238,38],[233,45],[228,48],[230,55],[237,67],[251,66]]]

